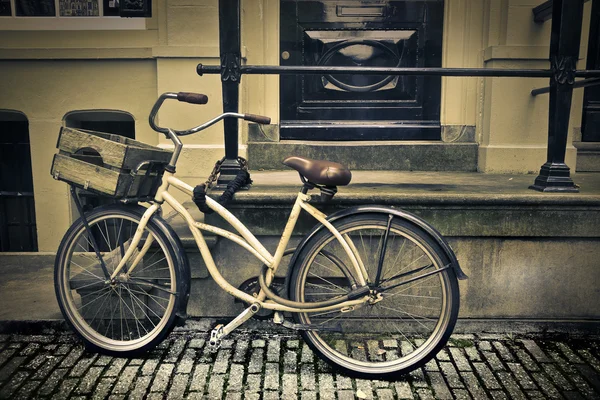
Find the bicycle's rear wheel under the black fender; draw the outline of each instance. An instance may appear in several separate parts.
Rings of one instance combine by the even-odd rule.
[[[374,289],[371,301],[354,309],[295,314],[297,322],[319,328],[302,333],[313,351],[357,377],[393,379],[424,365],[446,344],[458,315],[458,282],[448,256],[418,226],[389,218],[365,213],[334,223],[364,264]],[[306,244],[298,260],[292,300],[323,301],[349,293],[359,282],[348,278],[356,269],[327,229]]]

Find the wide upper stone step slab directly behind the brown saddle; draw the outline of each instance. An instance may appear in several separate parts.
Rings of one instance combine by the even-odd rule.
[[[301,185],[298,175],[252,172],[252,179],[250,190],[238,192],[228,208],[257,236],[278,236]],[[445,236],[600,237],[600,174],[574,175],[581,186],[576,194],[530,190],[533,179],[532,175],[354,171],[353,182],[339,187],[332,201],[320,202],[318,190],[311,194],[316,207],[327,214],[382,204],[420,215]],[[213,190],[211,195],[219,194],[220,190]],[[192,202],[185,205],[195,208]],[[315,225],[304,214],[296,234],[305,234]],[[216,214],[206,221],[230,229]]]

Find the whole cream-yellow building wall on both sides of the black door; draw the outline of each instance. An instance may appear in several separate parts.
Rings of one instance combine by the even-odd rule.
[[[550,22],[533,22],[542,0],[446,0],[443,66],[548,68]],[[218,75],[197,76],[196,65],[219,63],[218,0],[157,0],[140,31],[2,31],[0,109],[18,110],[30,123],[34,193],[41,251],[54,251],[69,225],[66,185],[50,163],[64,115],[73,110],[123,110],[136,120],[137,138],[168,147],[147,124],[165,91],[208,94],[206,106],[167,103],[159,123],[186,128],[218,114]],[[581,54],[585,55],[591,3]],[[279,63],[279,1],[242,0],[242,54],[248,64]],[[580,65],[584,65],[584,60]],[[531,97],[547,79],[443,78],[443,125],[476,125],[482,172],[539,171],[547,146],[548,96]],[[572,123],[580,124],[582,91],[575,91]],[[279,117],[276,76],[245,76],[240,110]],[[245,155],[242,124],[240,155]],[[222,124],[186,137],[179,172],[202,182],[224,153]],[[575,166],[569,145],[567,164]],[[507,162],[508,161],[508,162]]]

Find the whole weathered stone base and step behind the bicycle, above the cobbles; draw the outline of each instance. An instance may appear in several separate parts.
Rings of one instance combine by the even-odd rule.
[[[300,188],[294,171],[253,173],[254,185],[229,207],[271,252]],[[461,281],[458,332],[598,332],[600,174],[577,173],[581,193],[527,189],[533,175],[357,171],[326,212],[383,203],[417,213],[444,234],[469,279]],[[317,191],[318,193],[318,191]],[[217,195],[219,193],[213,193]],[[189,204],[195,208],[195,205]],[[214,215],[207,222],[216,222]],[[174,220],[175,221],[175,220]],[[300,221],[290,247],[315,221]],[[182,226],[188,248],[192,317],[230,318],[242,305],[210,278]],[[211,240],[221,274],[234,286],[256,277],[261,263],[236,244]],[[60,320],[52,254],[0,255],[0,321]],[[284,261],[285,265],[285,261]],[[284,276],[285,268],[278,271]],[[1,324],[0,324],[1,328]]]

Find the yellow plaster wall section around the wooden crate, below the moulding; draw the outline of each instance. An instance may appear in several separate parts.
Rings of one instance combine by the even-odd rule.
[[[67,230],[67,185],[50,176],[63,117],[73,110],[123,110],[136,121],[137,138],[156,144],[147,123],[156,96],[152,61],[0,62],[0,109],[23,112],[29,120],[35,213],[40,251],[55,251]],[[133,89],[135,88],[135,90]]]

